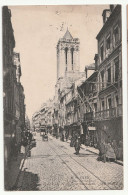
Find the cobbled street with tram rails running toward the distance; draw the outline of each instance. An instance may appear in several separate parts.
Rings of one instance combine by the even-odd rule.
[[[99,162],[97,155],[85,149],[75,155],[69,143],[49,135],[42,141],[36,135],[37,146],[25,160],[18,189],[23,190],[98,190],[122,189],[123,166],[114,162]]]

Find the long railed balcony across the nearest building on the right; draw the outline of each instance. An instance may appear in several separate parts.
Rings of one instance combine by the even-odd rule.
[[[95,120],[106,120],[111,118],[116,118],[122,116],[122,105],[119,105],[116,108],[111,108],[107,110],[102,110],[100,112],[96,112],[94,115]]]

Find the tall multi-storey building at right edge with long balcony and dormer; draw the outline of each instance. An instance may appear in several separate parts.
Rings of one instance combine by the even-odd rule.
[[[103,11],[98,42],[98,102],[95,124],[100,141],[122,145],[122,28],[121,6]]]

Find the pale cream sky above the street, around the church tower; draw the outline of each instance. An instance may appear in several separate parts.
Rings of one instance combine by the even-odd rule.
[[[21,83],[29,118],[55,95],[56,45],[67,30],[80,39],[80,71],[94,63],[96,35],[108,5],[9,6],[16,46],[20,53]]]

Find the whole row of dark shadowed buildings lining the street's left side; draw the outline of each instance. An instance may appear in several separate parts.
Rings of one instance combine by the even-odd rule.
[[[11,23],[11,11],[7,6],[2,9],[2,21],[4,162],[6,170],[9,160],[16,155],[18,144],[21,142],[21,118],[25,118],[25,97],[23,86],[18,80],[21,76],[20,64],[17,64],[18,60],[14,60],[19,54],[14,53],[15,38]],[[24,127],[24,122],[22,122],[22,125]]]

